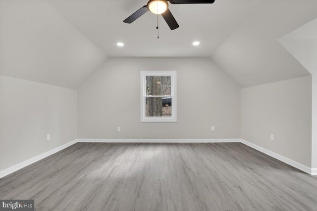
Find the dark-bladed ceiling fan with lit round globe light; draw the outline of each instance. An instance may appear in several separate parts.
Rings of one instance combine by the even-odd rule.
[[[178,23],[176,22],[174,16],[168,9],[168,3],[171,4],[185,4],[185,3],[213,3],[214,0],[149,0],[147,5],[141,7],[135,13],[130,15],[127,19],[125,19],[124,23],[132,23],[147,11],[151,11],[154,14],[161,14],[166,21],[167,25],[171,30],[177,29],[179,27]]]

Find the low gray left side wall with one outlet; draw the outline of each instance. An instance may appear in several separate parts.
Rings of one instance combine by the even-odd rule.
[[[0,125],[3,170],[77,138],[77,91],[1,76]]]

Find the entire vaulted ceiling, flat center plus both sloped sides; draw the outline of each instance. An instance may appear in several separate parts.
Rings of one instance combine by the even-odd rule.
[[[309,75],[278,39],[317,18],[315,0],[171,5],[171,31],[147,0],[0,0],[1,75],[78,88],[107,57],[209,57],[241,87]],[[193,46],[193,41],[200,41]],[[124,42],[124,47],[117,47]]]

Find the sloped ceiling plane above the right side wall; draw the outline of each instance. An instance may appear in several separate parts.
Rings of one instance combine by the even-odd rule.
[[[317,17],[317,1],[263,1],[211,58],[241,87],[310,73],[278,42]]]

